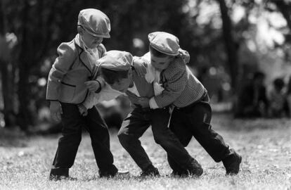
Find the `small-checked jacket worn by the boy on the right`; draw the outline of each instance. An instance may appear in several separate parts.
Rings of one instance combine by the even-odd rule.
[[[206,89],[193,75],[183,58],[177,56],[169,67],[161,72],[162,94],[155,96],[159,108],[173,104],[182,108],[198,101]]]

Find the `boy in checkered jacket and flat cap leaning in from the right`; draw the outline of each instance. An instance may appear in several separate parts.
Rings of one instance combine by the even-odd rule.
[[[211,129],[212,110],[207,90],[186,66],[179,53],[179,39],[167,32],[148,34],[150,53],[136,59],[134,65],[142,68],[143,61],[151,63],[160,71],[161,94],[150,99],[141,99],[143,108],[165,108],[173,106],[169,128],[176,134],[183,146],[188,146],[195,137],[217,163],[222,161],[226,175],[238,174],[241,156],[229,149],[224,139]],[[141,72],[141,71],[140,71]],[[186,172],[168,155],[174,173]]]

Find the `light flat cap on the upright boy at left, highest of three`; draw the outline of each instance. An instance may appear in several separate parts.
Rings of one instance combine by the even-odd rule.
[[[107,15],[95,8],[80,11],[78,25],[94,37],[110,38],[110,20]]]

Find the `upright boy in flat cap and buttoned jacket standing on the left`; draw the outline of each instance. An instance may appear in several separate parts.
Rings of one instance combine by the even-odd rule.
[[[96,79],[96,61],[106,51],[101,42],[110,37],[110,20],[97,9],[84,9],[79,13],[77,30],[75,39],[58,46],[58,58],[48,75],[46,99],[51,103],[52,118],[61,120],[63,125],[49,179],[69,179],[69,168],[75,161],[82,127],[90,134],[100,177],[117,174],[107,125],[95,107],[89,109],[85,117],[77,107],[89,91],[98,93],[103,86],[103,80],[93,79]]]

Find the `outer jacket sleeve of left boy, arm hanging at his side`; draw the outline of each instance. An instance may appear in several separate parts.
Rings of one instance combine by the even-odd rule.
[[[60,82],[75,61],[75,52],[68,44],[60,44],[57,52],[58,58],[48,74],[46,99],[49,101],[58,101]]]

